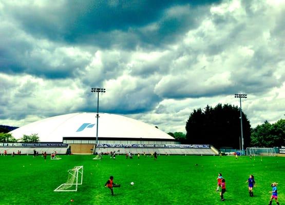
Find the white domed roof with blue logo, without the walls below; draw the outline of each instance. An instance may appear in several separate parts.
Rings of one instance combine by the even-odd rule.
[[[72,113],[49,117],[17,128],[10,133],[16,139],[38,134],[42,142],[62,142],[63,137],[96,137],[97,113]],[[144,122],[122,115],[99,113],[98,137],[174,139]]]

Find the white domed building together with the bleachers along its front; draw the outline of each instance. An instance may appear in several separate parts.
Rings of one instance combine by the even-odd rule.
[[[52,152],[52,150],[57,150],[58,153],[64,154],[67,148],[71,148],[72,153],[92,153],[95,149],[97,131],[98,146],[96,152],[120,150],[120,153],[129,151],[133,153],[154,151],[173,153],[174,150],[169,150],[170,148],[180,149],[177,147],[180,146],[180,143],[175,138],[154,126],[122,115],[107,113],[99,114],[98,125],[96,113],[72,113],[35,121],[10,133],[16,139],[22,138],[23,135],[37,134],[39,136],[40,141],[37,144],[16,144],[16,147],[25,150],[24,153],[30,153],[33,148],[37,148],[40,153],[41,151]],[[4,145],[0,148],[1,151],[3,151],[3,147]],[[15,145],[10,144],[10,147],[17,151]],[[8,144],[6,148],[9,148]],[[169,149],[166,150],[165,148]],[[203,149],[206,147],[195,148]],[[175,152],[175,154],[184,153],[186,154],[185,150]]]

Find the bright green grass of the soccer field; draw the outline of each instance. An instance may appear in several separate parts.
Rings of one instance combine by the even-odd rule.
[[[41,156],[0,156],[0,204],[268,204],[274,181],[279,183],[279,201],[285,203],[285,157],[262,161],[231,156],[158,156],[157,161],[143,156],[116,160],[104,156],[101,161],[91,155],[61,157],[44,161]],[[84,177],[78,191],[53,192],[66,181],[67,170],[80,165]],[[215,192],[219,172],[226,180],[224,202]],[[253,198],[244,183],[250,174],[256,180]],[[110,175],[121,184],[114,189],[115,196],[104,188]]]

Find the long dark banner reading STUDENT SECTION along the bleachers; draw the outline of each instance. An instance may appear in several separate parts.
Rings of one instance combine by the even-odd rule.
[[[155,144],[98,144],[100,148],[202,148],[209,149],[210,145],[155,145]]]

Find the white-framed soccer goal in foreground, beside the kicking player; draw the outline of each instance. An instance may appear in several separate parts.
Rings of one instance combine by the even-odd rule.
[[[76,192],[78,185],[82,185],[83,166],[76,166],[68,170],[68,178],[65,183],[53,190],[54,192]]]

